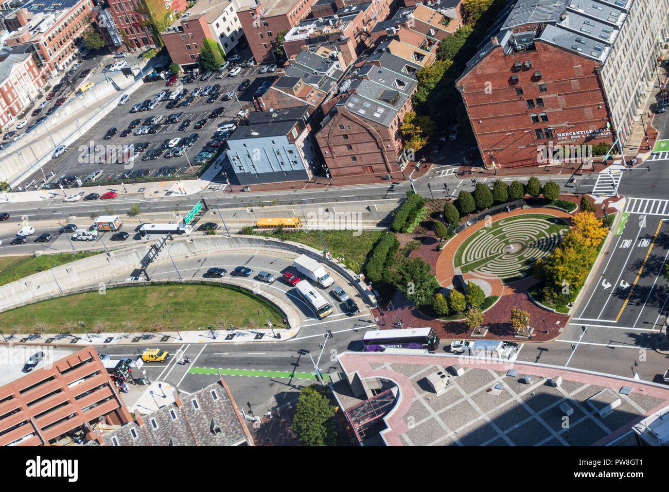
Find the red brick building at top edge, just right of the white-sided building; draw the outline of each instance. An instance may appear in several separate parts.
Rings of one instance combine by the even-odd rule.
[[[316,0],[246,0],[237,17],[256,63],[276,60],[276,36],[279,31],[298,25],[311,12]],[[251,3],[251,5],[249,5]]]

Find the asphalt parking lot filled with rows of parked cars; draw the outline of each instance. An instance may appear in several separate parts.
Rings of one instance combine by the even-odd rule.
[[[243,108],[251,108],[251,103],[253,100],[254,92],[263,82],[270,82],[274,80],[273,74],[259,74],[260,66],[253,66],[250,68],[242,68],[241,73],[238,76],[230,77],[227,76],[229,71],[223,72],[224,76],[221,79],[216,79],[217,74],[213,74],[208,80],[201,81],[199,78],[195,82],[188,84],[183,84],[183,78],[179,78],[173,86],[166,86],[165,80],[159,80],[157,82],[149,82],[144,84],[142,88],[134,92],[130,99],[122,106],[117,106],[107,114],[102,121],[96,126],[96,129],[90,131],[84,137],[78,139],[74,144],[68,147],[68,151],[64,153],[61,157],[52,159],[49,163],[43,166],[42,170],[37,170],[35,173],[27,177],[22,183],[21,186],[25,186],[31,181],[39,183],[42,178],[42,171],[44,176],[47,178],[47,183],[51,183],[51,187],[58,187],[58,181],[62,177],[66,176],[78,176],[82,181],[88,177],[94,171],[102,170],[102,176],[98,181],[110,181],[116,179],[126,179],[121,178],[124,171],[128,169],[145,169],[147,172],[144,173],[145,178],[155,177],[157,171],[164,166],[175,167],[175,174],[183,175],[189,173],[195,173],[199,169],[199,165],[189,165],[190,159],[195,157],[199,153],[200,149],[205,147],[205,143],[209,141],[217,129],[217,127],[237,118],[237,113]],[[238,87],[242,81],[246,79],[251,80],[251,86],[243,91],[238,91]],[[177,106],[171,109],[167,109],[166,106],[169,103],[169,100],[161,101],[153,110],[145,110],[140,112],[130,113],[130,109],[134,104],[141,103],[145,100],[153,100],[155,95],[161,90],[170,90],[170,91],[179,91],[183,88],[189,91],[189,94],[192,94],[195,88],[203,89],[207,85],[220,84],[221,88],[218,92],[219,96],[214,102],[207,102],[209,99],[207,96],[199,96],[193,100],[190,106]],[[223,101],[222,96],[225,92],[233,91],[236,94],[236,98],[231,100]],[[181,102],[185,100],[181,99]],[[223,112],[216,118],[210,118],[210,114],[216,108],[223,108]],[[134,135],[134,130],[130,135],[126,137],[120,137],[122,131],[128,128],[128,125],[132,120],[141,119],[140,125],[143,125],[144,121],[147,118],[153,118],[153,116],[163,115],[165,120],[169,118],[172,114],[177,114],[178,112],[185,112],[185,116],[181,122],[171,125],[162,125],[157,133],[147,134],[147,135]],[[190,125],[179,131],[179,126],[185,120],[191,120]],[[205,125],[201,129],[194,129],[195,123],[198,120],[207,120]],[[164,122],[164,120],[163,120]],[[110,128],[116,128],[118,133],[112,138],[104,140],[103,137],[106,135],[107,131]],[[189,137],[192,133],[197,133],[199,135],[199,141],[193,145],[185,155],[180,157],[171,157],[165,158],[164,154],[161,155],[158,159],[155,160],[144,160],[144,157],[149,151],[157,149],[160,145],[166,141],[175,138],[185,138]],[[148,143],[147,149],[138,157],[138,159],[132,163],[88,163],[86,162],[86,154],[88,148],[94,145],[105,145],[105,146],[114,146],[116,149],[121,149],[123,145],[139,143]],[[109,147],[108,147],[109,148]],[[94,161],[97,159],[94,159]],[[97,182],[97,181],[94,181]]]

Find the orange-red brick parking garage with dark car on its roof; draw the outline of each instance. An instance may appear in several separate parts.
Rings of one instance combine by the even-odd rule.
[[[9,362],[0,370],[0,446],[49,445],[82,428],[90,440],[97,437],[92,426],[100,417],[112,425],[132,421],[93,347],[74,352],[31,346],[3,349]],[[25,361],[40,350],[43,361],[25,374]]]

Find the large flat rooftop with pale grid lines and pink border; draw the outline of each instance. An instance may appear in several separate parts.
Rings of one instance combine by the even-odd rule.
[[[669,388],[659,384],[532,363],[352,352],[339,355],[339,361],[347,374],[357,371],[363,380],[381,378],[399,386],[399,399],[383,417],[385,425],[379,426],[379,442],[390,446],[603,445],[669,404]],[[437,396],[427,377],[448,371],[454,363],[462,365],[464,374],[450,378],[451,384]],[[518,373],[507,376],[511,368]],[[532,376],[529,384],[527,375]],[[562,382],[554,388],[550,381],[557,376]],[[338,385],[333,386],[335,392],[341,382]],[[620,394],[623,386],[632,387],[632,392]],[[622,404],[599,417],[587,404],[597,394],[615,395]],[[350,392],[342,391],[341,396],[343,410],[355,403]],[[573,410],[567,428],[560,408],[565,403]],[[412,426],[407,425],[409,417]]]

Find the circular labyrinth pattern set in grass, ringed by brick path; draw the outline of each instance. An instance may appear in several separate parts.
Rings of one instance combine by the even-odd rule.
[[[527,214],[504,218],[474,232],[456,251],[454,265],[502,280],[531,274],[537,258],[551,254],[569,226],[560,218]]]

